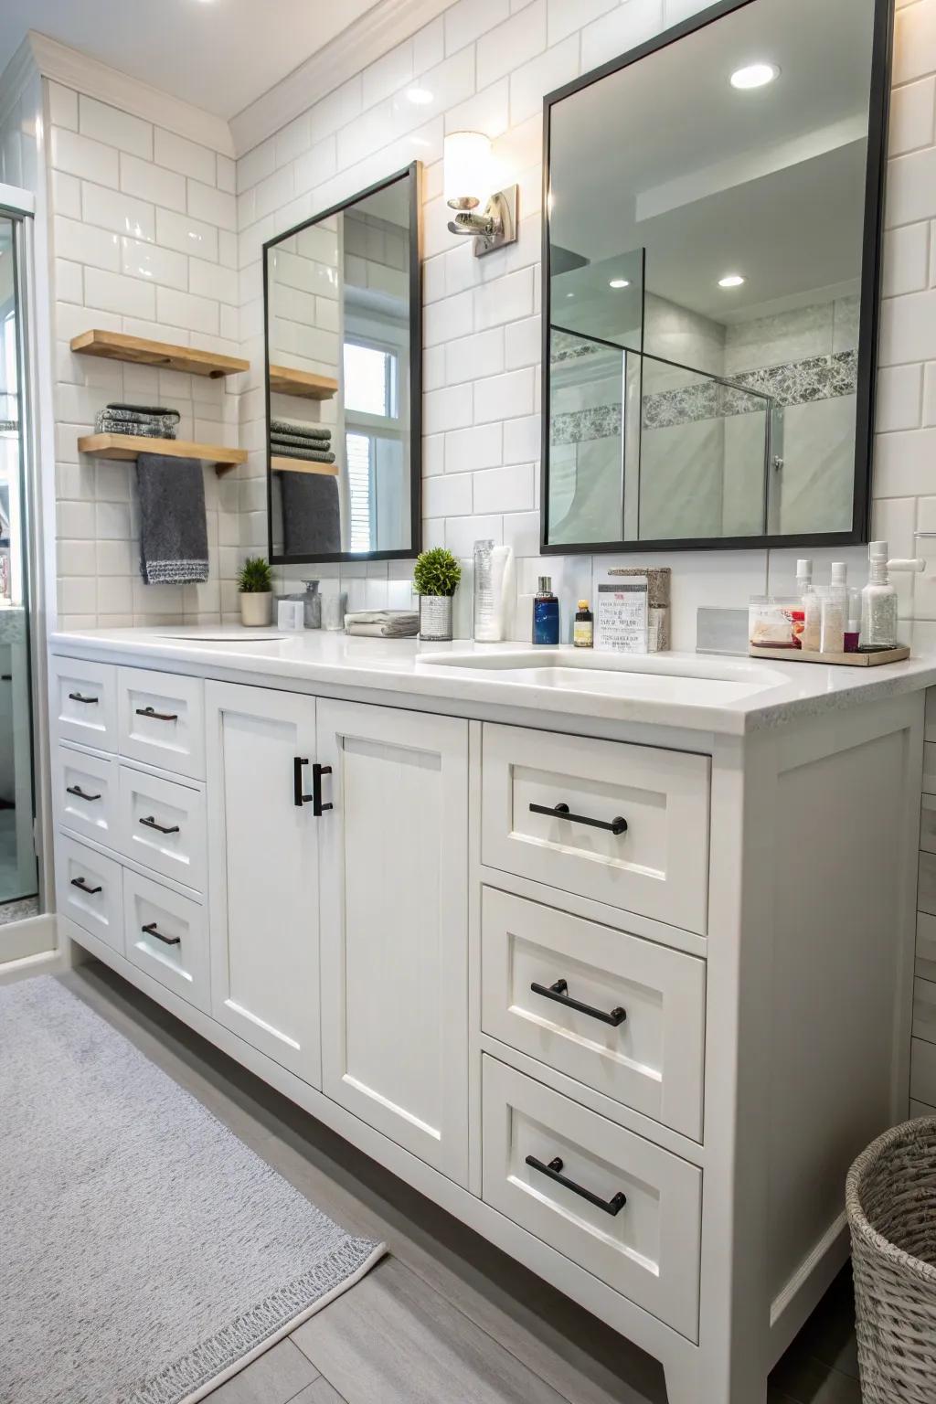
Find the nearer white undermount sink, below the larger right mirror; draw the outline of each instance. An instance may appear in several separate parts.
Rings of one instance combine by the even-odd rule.
[[[606,692],[717,706],[786,682],[776,668],[744,658],[692,654],[620,654],[585,649],[511,649],[421,656],[428,667],[467,668],[497,681],[573,692]]]

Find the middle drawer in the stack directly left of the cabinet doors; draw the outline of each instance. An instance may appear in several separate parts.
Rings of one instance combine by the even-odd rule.
[[[205,887],[205,795],[121,765],[118,847],[166,878]]]

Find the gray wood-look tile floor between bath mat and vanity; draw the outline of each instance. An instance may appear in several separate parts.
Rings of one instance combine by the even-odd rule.
[[[390,1250],[210,1404],[664,1404],[654,1360],[118,976],[91,963],[62,979],[324,1213]],[[848,1275],[770,1383],[770,1404],[860,1404]]]

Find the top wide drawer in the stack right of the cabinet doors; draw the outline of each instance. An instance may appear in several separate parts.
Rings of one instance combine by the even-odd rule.
[[[704,935],[707,755],[487,723],[483,765],[487,866]]]

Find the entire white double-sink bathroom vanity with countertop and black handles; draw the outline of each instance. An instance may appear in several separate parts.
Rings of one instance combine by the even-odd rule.
[[[672,1404],[758,1404],[846,1258],[850,1160],[907,1113],[935,681],[56,635],[63,939],[657,1356]]]

